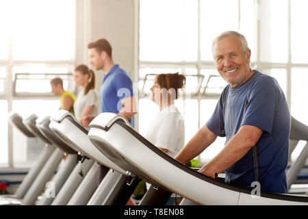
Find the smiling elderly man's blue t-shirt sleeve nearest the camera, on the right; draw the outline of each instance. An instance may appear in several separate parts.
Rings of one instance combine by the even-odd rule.
[[[277,87],[274,83],[257,81],[248,93],[241,125],[253,125],[272,133],[278,97]]]

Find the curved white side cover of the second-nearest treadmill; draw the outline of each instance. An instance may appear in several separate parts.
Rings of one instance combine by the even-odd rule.
[[[51,116],[49,127],[55,135],[66,140],[68,144],[73,146],[77,151],[80,151],[83,155],[90,157],[99,164],[103,164],[112,170],[126,175],[125,170],[119,168],[114,162],[111,162],[110,159],[97,150],[87,137],[88,131],[79,125],[70,112],[66,110],[57,110],[57,112]]]

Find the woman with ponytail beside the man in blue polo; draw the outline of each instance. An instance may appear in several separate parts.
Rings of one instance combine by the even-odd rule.
[[[81,64],[75,68],[74,79],[76,86],[82,87],[74,103],[76,119],[80,121],[84,116],[99,114],[99,93],[94,89],[95,75],[93,71],[88,66]]]

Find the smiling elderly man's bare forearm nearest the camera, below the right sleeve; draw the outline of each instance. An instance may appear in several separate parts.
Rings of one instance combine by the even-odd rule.
[[[239,159],[257,144],[262,129],[251,125],[243,125],[238,133],[233,136],[224,149],[216,155],[209,163],[205,164],[199,172],[211,177],[214,173],[220,173],[235,164]]]

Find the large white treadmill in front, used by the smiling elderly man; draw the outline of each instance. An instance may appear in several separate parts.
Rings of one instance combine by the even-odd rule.
[[[131,175],[183,196],[181,205],[308,205],[307,196],[270,192],[255,196],[246,188],[207,177],[157,149],[117,114],[99,114],[90,123],[88,137]]]

